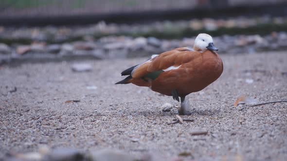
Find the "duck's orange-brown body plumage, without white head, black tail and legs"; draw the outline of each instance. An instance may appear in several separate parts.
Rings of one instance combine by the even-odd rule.
[[[145,79],[145,75],[170,66],[178,67],[162,72],[156,79]],[[161,53],[150,61],[135,68],[128,82],[150,87],[153,91],[172,96],[178,90],[180,97],[200,91],[217,80],[223,72],[223,64],[215,51],[192,51],[176,48]]]

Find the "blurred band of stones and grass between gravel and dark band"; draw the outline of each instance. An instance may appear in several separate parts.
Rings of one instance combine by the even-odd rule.
[[[275,26],[275,27],[274,27]],[[218,53],[287,49],[286,17],[234,17],[158,21],[150,24],[1,27],[1,62],[144,57],[192,48],[198,33],[214,37]]]

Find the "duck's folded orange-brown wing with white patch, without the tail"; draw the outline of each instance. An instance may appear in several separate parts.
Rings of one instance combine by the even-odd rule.
[[[156,79],[162,72],[178,69],[182,64],[194,59],[197,51],[190,48],[176,48],[163,52],[139,64],[131,71],[132,78]]]

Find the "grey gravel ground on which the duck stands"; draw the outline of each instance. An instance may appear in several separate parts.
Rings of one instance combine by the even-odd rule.
[[[167,125],[179,103],[148,88],[114,85],[122,70],[146,58],[84,61],[90,72],[73,72],[75,62],[0,67],[0,152],[52,148],[121,149],[132,155],[187,154],[185,159],[284,160],[287,158],[287,103],[255,107],[233,103],[237,97],[259,102],[287,99],[287,54],[221,55],[223,75],[190,94],[194,122]],[[16,89],[15,89],[16,87]],[[66,102],[80,100],[80,102]],[[207,135],[191,135],[208,130]],[[189,154],[190,153],[190,154]]]

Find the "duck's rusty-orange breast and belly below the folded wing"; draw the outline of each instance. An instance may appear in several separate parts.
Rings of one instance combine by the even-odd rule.
[[[151,81],[151,89],[167,96],[171,96],[171,91],[176,89],[179,96],[186,96],[204,89],[220,77],[223,63],[216,52],[207,50],[190,54],[193,56],[189,62],[181,64],[176,70],[163,72]]]

